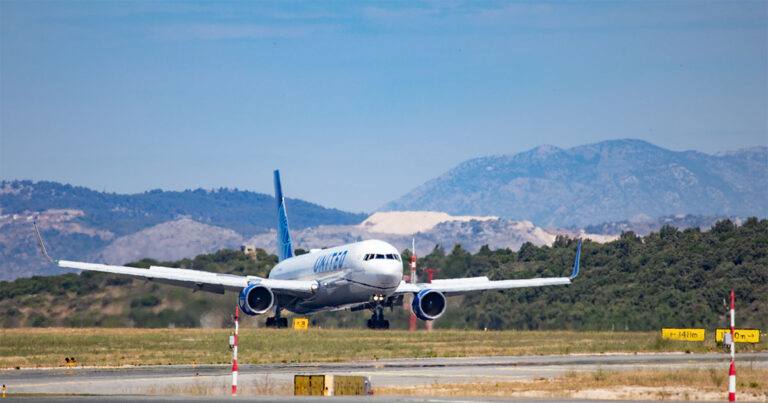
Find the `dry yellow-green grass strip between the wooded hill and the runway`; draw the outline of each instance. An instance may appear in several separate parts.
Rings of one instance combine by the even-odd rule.
[[[22,328],[0,330],[0,368],[77,365],[223,364],[231,362],[228,329]],[[659,332],[373,331],[243,329],[241,364],[335,362],[414,357],[550,355],[605,352],[711,352],[704,342],[662,340]],[[768,343],[739,344],[768,351]]]

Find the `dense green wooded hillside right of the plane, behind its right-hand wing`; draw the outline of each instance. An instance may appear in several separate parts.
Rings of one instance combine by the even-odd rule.
[[[524,244],[515,253],[460,247],[436,250],[421,267],[440,277],[487,275],[491,279],[567,275],[576,241],[559,237],[552,247]],[[768,328],[768,220],[737,227],[716,223],[709,231],[665,226],[646,237],[632,232],[607,244],[584,242],[581,273],[567,287],[487,292],[449,306],[438,327],[489,329],[656,330],[661,327],[727,327],[731,289],[740,327]],[[423,278],[422,278],[423,280]]]

